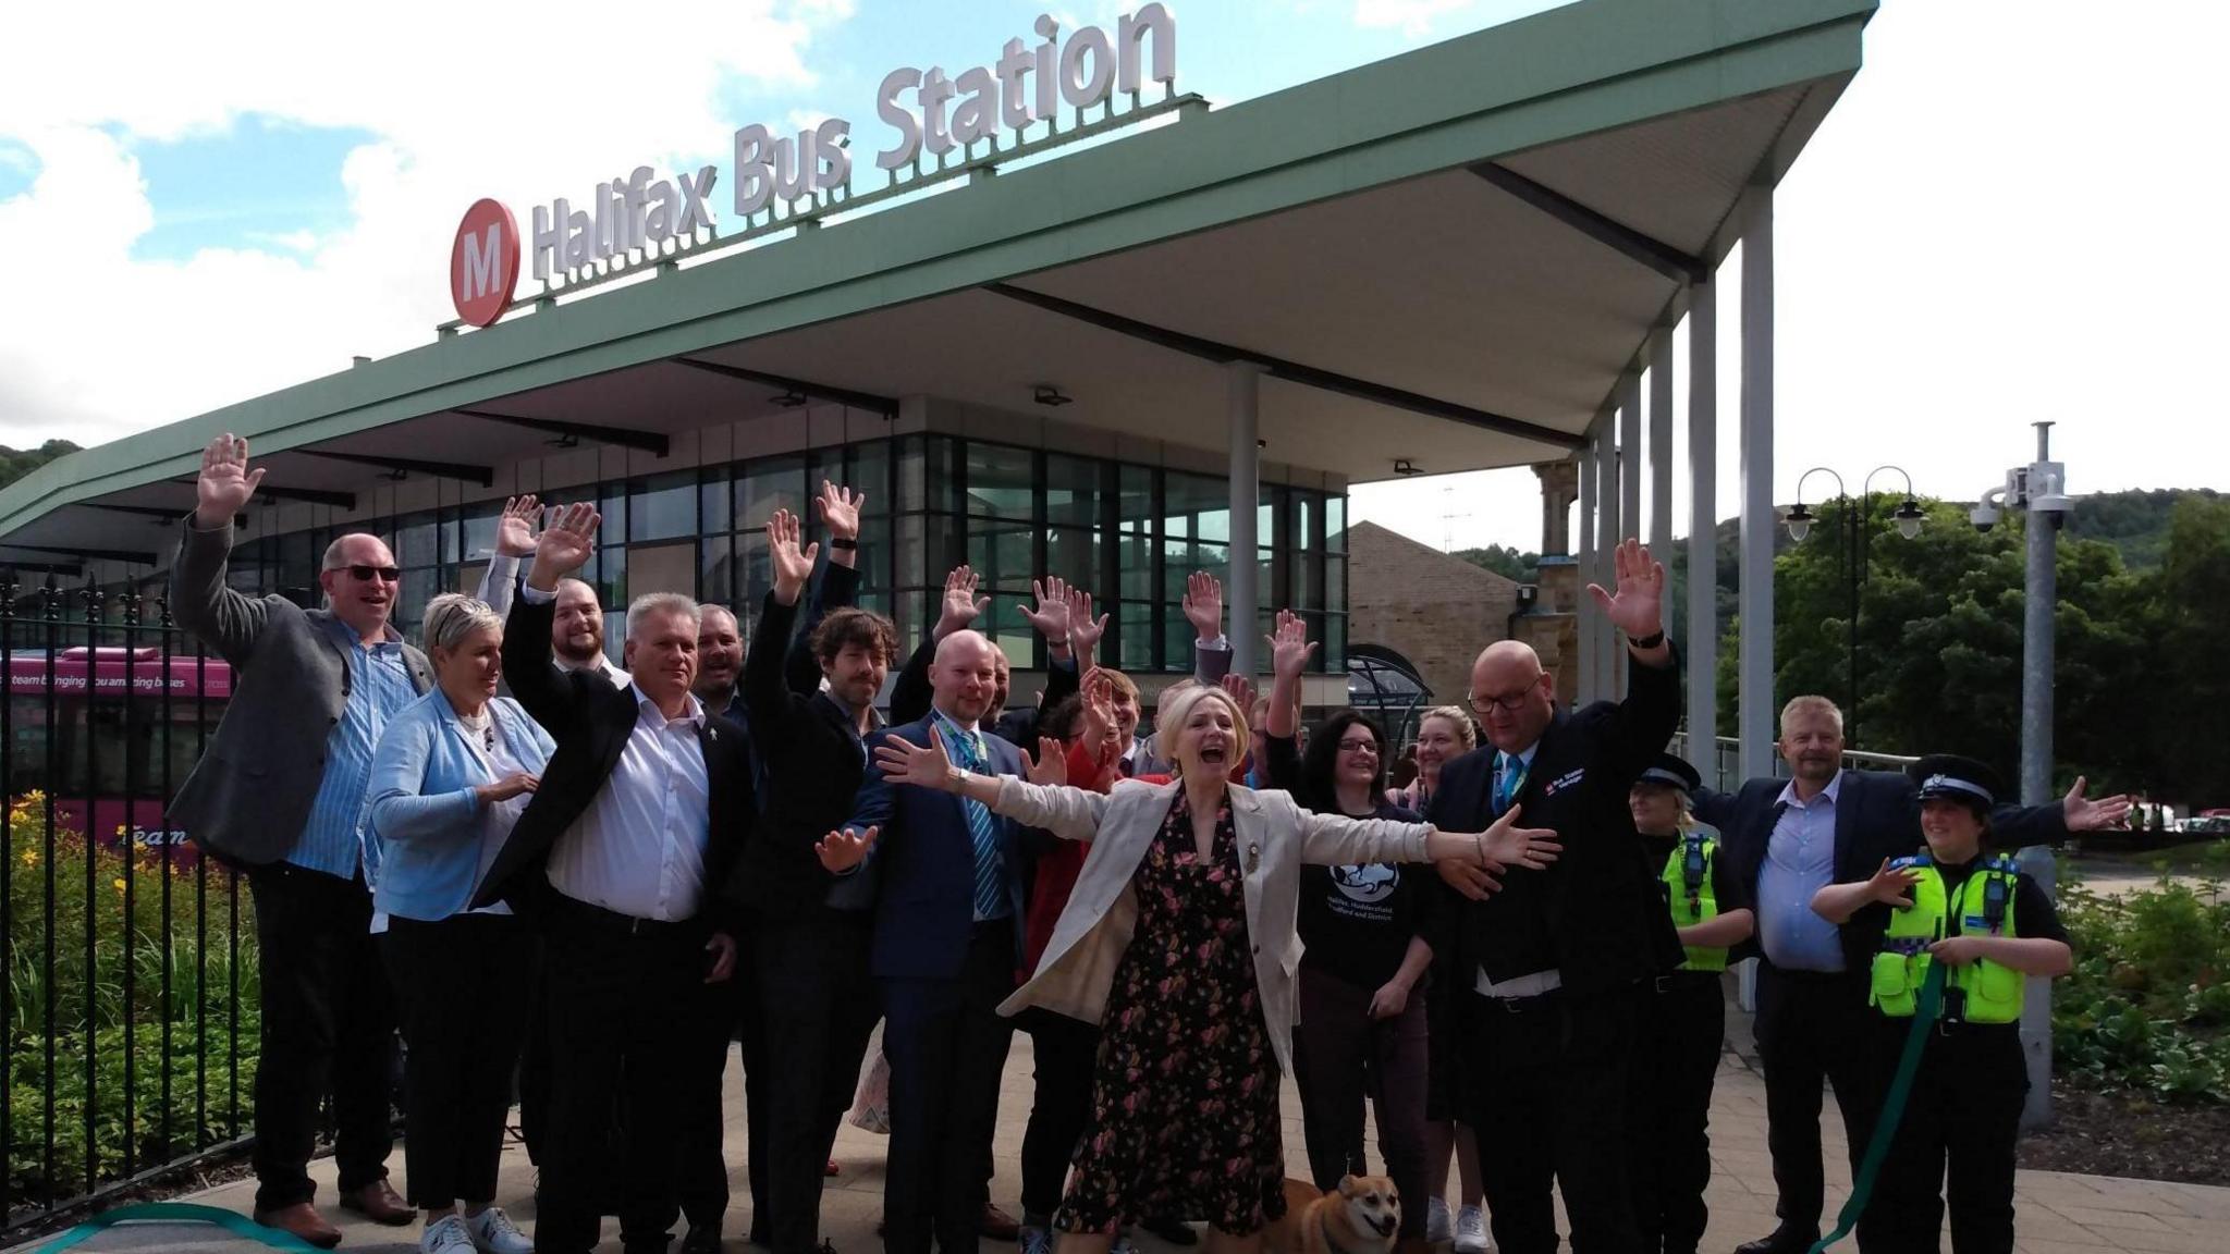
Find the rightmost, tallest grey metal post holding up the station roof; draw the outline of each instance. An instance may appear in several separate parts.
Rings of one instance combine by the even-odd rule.
[[[1742,203],[1742,774],[1773,774],[1773,187]]]

